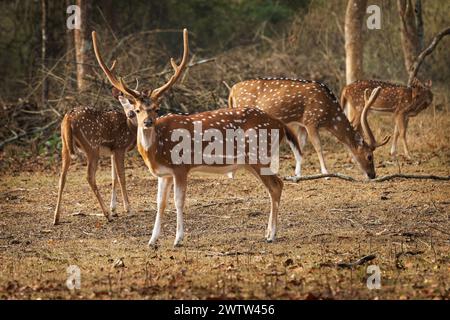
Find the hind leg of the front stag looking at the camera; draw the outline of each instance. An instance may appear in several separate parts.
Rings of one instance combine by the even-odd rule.
[[[278,228],[278,207],[283,190],[283,181],[276,175],[262,175],[259,169],[249,167],[250,172],[256,176],[266,187],[270,195],[270,215],[266,230],[266,241],[275,241]]]

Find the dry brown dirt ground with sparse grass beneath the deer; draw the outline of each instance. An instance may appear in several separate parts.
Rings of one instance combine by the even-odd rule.
[[[372,120],[378,137],[392,130],[389,120]],[[413,159],[396,160],[385,146],[375,152],[378,175],[399,170],[449,175],[449,128],[448,109],[429,109],[412,119]],[[322,137],[330,171],[362,178],[346,149],[328,134]],[[310,144],[304,154],[304,174],[318,173]],[[156,214],[156,179],[135,151],[127,159],[135,214],[124,215],[119,202],[119,217],[111,223],[100,215],[80,159],[69,171],[62,223],[53,226],[59,164],[46,161],[9,163],[1,174],[1,299],[450,298],[448,181],[285,182],[278,237],[270,244],[263,240],[269,198],[256,179],[244,172],[234,180],[193,175],[184,246],[172,247],[171,200],[154,249],[147,242]],[[102,164],[97,181],[108,201],[108,159]],[[281,176],[293,173],[290,152],[283,153],[281,164]],[[375,258],[353,268],[339,265],[366,255]],[[81,271],[75,291],[66,287],[70,265]],[[369,265],[381,270],[380,289],[366,285]]]

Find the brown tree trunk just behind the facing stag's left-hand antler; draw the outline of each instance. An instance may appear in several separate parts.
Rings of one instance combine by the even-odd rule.
[[[87,23],[88,23],[88,6],[89,0],[77,0],[80,8],[80,29],[74,30],[75,60],[77,63],[77,86],[78,91],[84,91],[87,88]]]

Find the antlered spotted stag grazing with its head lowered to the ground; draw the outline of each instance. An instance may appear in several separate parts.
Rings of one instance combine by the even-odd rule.
[[[309,135],[319,156],[323,174],[327,174],[328,170],[322,154],[319,128],[325,128],[345,144],[370,179],[376,176],[373,151],[389,140],[389,137],[385,137],[381,143],[377,143],[367,118],[361,115],[361,123],[368,139],[365,142],[350,125],[333,92],[317,81],[285,78],[247,80],[231,88],[228,103],[231,108],[256,107],[280,119],[296,133],[302,148]],[[370,108],[371,103],[365,108]],[[294,156],[295,175],[300,176],[302,157],[297,152],[294,152]]]

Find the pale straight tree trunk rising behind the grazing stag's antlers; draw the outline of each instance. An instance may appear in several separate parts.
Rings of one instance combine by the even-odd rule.
[[[350,84],[363,77],[362,26],[367,0],[349,0],[345,12],[345,71]]]

